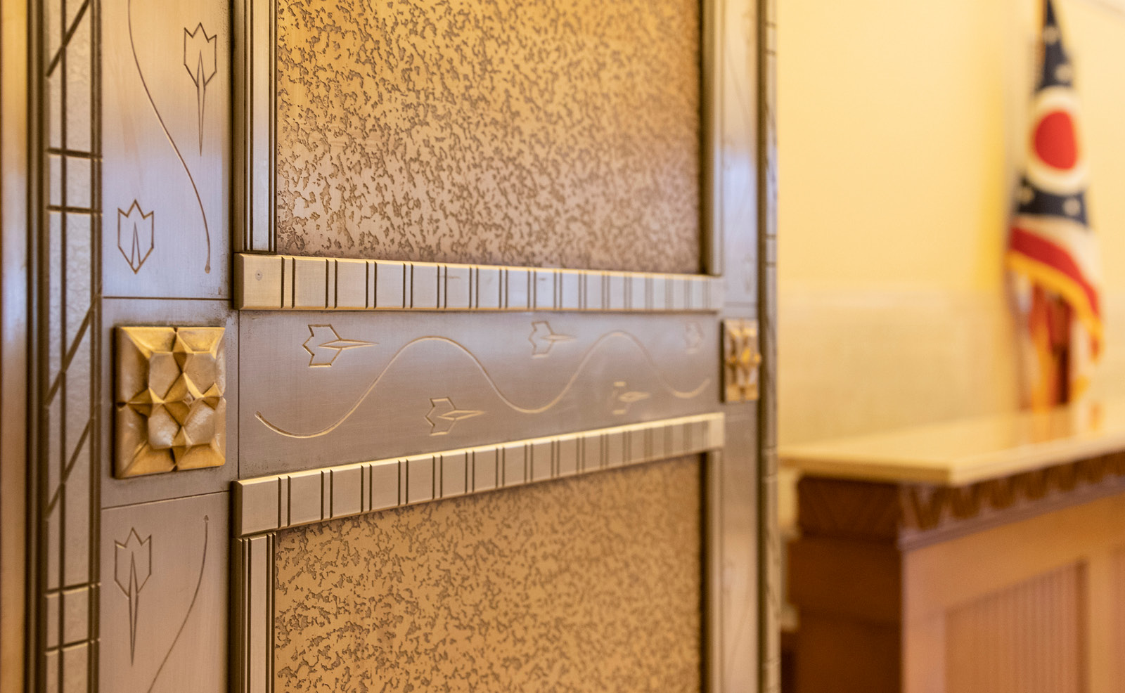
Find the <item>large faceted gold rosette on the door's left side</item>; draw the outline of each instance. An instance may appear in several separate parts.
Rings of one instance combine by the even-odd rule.
[[[117,328],[114,476],[223,466],[223,327]]]

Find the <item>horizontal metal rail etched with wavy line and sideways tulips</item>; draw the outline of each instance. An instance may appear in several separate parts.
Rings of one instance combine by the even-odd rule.
[[[240,399],[243,478],[698,414],[719,397],[714,323],[615,314],[325,317],[241,314],[242,382],[253,384]],[[318,364],[307,344],[325,326],[370,345]],[[544,352],[544,330],[572,339]],[[322,359],[325,350],[316,345]]]

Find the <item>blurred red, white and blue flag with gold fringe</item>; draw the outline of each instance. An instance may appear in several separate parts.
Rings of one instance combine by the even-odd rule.
[[[1078,136],[1073,68],[1051,0],[1043,10],[1042,48],[1027,163],[1007,252],[1026,320],[1035,408],[1079,400],[1102,346],[1100,261],[1087,218],[1086,152]]]

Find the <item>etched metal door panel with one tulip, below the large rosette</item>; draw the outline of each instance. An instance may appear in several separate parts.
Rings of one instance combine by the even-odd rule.
[[[227,690],[227,498],[102,512],[100,690]]]

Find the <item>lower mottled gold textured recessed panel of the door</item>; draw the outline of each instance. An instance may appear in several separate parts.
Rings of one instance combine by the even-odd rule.
[[[698,691],[696,457],[286,530],[278,691]]]

